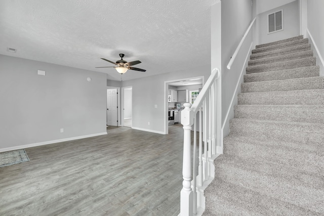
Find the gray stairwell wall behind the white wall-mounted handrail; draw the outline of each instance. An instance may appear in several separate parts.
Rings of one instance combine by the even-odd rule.
[[[222,1],[222,125],[224,137],[229,133],[228,120],[233,118],[233,106],[237,104],[235,92],[236,83],[242,68],[245,68],[245,59],[250,54],[252,33],[247,36],[230,70],[226,68],[232,54],[238,46],[252,21],[251,0],[227,0]],[[244,71],[245,73],[245,71]],[[240,82],[243,82],[241,79]],[[232,96],[235,95],[233,105],[230,107]],[[228,109],[229,116],[225,122]]]

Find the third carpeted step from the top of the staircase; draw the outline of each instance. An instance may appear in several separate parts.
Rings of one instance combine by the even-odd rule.
[[[272,50],[264,53],[257,53],[250,56],[250,60],[263,59],[273,56],[280,56],[290,53],[297,53],[302,51],[310,50],[310,44],[302,44],[293,47],[282,48],[278,50]]]

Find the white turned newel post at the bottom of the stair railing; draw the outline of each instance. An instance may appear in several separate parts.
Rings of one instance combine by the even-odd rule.
[[[191,125],[193,112],[191,104],[185,103],[181,111],[181,124],[183,125],[183,164],[182,164],[182,189],[180,192],[180,215],[192,216],[192,190],[191,190]]]

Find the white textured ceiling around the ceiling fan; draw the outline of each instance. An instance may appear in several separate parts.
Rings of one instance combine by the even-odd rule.
[[[140,60],[123,80],[210,68],[211,0],[1,0],[0,54],[107,73]],[[7,52],[7,48],[17,53]]]

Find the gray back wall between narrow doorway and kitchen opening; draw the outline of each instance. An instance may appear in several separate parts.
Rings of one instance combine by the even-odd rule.
[[[207,57],[209,59],[210,57]],[[200,65],[199,65],[200,66]],[[149,71],[146,71],[149,73]],[[123,81],[123,86],[132,86],[133,116],[132,126],[144,130],[164,133],[167,122],[168,98],[165,81],[185,79],[197,76],[209,77],[210,64],[190,71],[174,71],[139,79]],[[157,105],[157,108],[154,107]],[[148,125],[148,122],[150,124]]]

